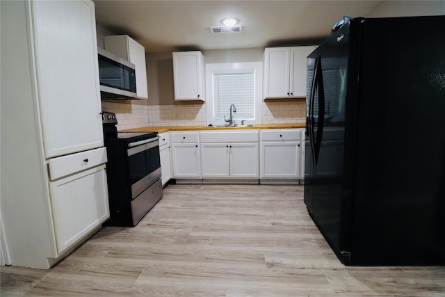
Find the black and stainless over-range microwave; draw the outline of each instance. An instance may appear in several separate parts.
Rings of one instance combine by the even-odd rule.
[[[134,64],[97,48],[102,99],[134,99],[136,74]]]

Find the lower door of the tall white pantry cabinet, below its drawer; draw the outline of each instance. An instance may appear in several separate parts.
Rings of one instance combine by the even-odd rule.
[[[105,166],[49,184],[60,254],[110,217]]]

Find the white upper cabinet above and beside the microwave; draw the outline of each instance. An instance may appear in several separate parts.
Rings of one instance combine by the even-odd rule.
[[[104,47],[111,54],[124,58],[136,66],[136,98],[148,99],[145,48],[129,37],[129,35],[105,36]]]

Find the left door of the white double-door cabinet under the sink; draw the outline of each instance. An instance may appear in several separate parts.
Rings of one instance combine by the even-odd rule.
[[[202,177],[229,177],[229,145],[201,143]]]

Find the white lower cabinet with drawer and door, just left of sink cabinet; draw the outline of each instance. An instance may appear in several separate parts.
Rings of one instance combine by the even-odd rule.
[[[198,132],[171,132],[173,177],[200,178],[201,156]]]

